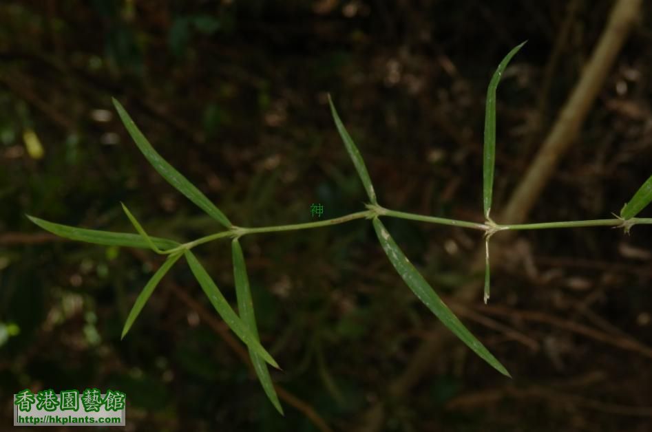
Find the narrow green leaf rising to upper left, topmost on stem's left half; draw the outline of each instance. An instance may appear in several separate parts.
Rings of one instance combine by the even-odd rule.
[[[156,171],[158,171],[158,173],[162,175],[169,184],[177,188],[180,193],[186,195],[188,199],[208,213],[208,215],[213,217],[213,219],[229,228],[232,224],[226,215],[224,215],[219,208],[215,207],[215,204],[213,204],[206,195],[189,182],[186,177],[179,173],[179,171],[176,171],[173,166],[163,159],[161,155],[154,150],[154,147],[151,147],[151,144],[149,144],[149,141],[145,138],[143,133],[140,132],[140,129],[138,129],[129,114],[127,114],[125,108],[120,105],[120,102],[115,98],[112,100],[113,105],[115,105],[116,110],[118,111],[118,116],[120,116],[120,119],[123,121],[129,135],[132,136],[138,149],[140,149],[140,152],[145,155],[145,158],[147,158],[151,166],[154,166],[154,169],[156,169]]]

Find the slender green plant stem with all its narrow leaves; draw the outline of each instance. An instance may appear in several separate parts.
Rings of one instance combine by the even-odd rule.
[[[136,299],[131,312],[129,312],[129,316],[127,316],[127,321],[125,322],[123,328],[123,338],[136,320],[140,310],[143,309],[151,293],[154,292],[154,289],[156,288],[156,285],[160,279],[162,279],[162,277],[170,270],[170,268],[172,268],[172,266],[176,263],[176,261],[178,261],[178,259],[180,259],[180,257],[185,257],[191,272],[198,280],[198,283],[202,287],[202,290],[204,290],[204,293],[208,296],[209,301],[211,301],[213,307],[215,307],[215,310],[218,312],[218,314],[220,314],[227,325],[229,325],[231,330],[233,330],[233,332],[249,348],[251,361],[253,363],[255,372],[260,379],[262,387],[276,409],[281,413],[282,407],[277,398],[277,394],[267,369],[267,364],[272,365],[273,367],[278,367],[278,365],[272,356],[260,344],[253,312],[251,292],[249,291],[249,281],[247,279],[244,255],[238,240],[244,235],[251,235],[255,233],[302,230],[330,226],[334,224],[342,224],[355,219],[371,219],[383,250],[386,252],[388,259],[395,267],[403,281],[405,281],[406,285],[408,285],[410,290],[414,292],[419,300],[421,300],[446,327],[448,327],[457,337],[461,339],[461,341],[470,347],[470,349],[472,349],[476,354],[478,354],[481,358],[483,358],[483,360],[489,363],[496,370],[501,372],[501,374],[509,376],[507,369],[505,369],[505,367],[503,367],[503,365],[498,360],[496,360],[496,358],[484,347],[484,345],[478,341],[478,339],[475,338],[475,336],[473,336],[469,330],[467,330],[467,328],[463,325],[463,323],[461,323],[461,321],[459,321],[459,319],[453,314],[448,306],[446,306],[443,301],[441,301],[437,293],[432,289],[428,282],[425,281],[417,269],[412,266],[412,263],[410,263],[406,255],[403,254],[401,248],[399,248],[394,239],[392,239],[392,236],[388,230],[385,228],[385,226],[383,226],[380,218],[397,217],[401,219],[430,222],[432,224],[443,224],[481,230],[485,236],[486,250],[484,294],[485,303],[490,294],[489,244],[491,237],[499,231],[543,228],[574,228],[586,226],[612,226],[624,228],[626,232],[629,232],[631,227],[635,224],[652,224],[652,218],[646,219],[635,217],[638,215],[640,210],[642,210],[647,204],[649,204],[649,202],[652,201],[652,177],[650,177],[635,193],[633,198],[627,204],[625,204],[625,206],[620,211],[620,216],[615,216],[612,219],[503,225],[497,224],[490,218],[490,211],[492,208],[492,188],[494,181],[494,160],[496,151],[496,89],[501,79],[501,75],[507,67],[507,64],[522,46],[523,43],[517,47],[514,47],[514,49],[510,51],[509,54],[505,56],[505,58],[503,58],[503,61],[501,61],[501,63],[498,65],[496,72],[492,76],[492,80],[487,90],[484,136],[485,139],[483,152],[483,213],[485,217],[485,222],[483,223],[467,222],[457,219],[446,219],[443,217],[416,215],[412,213],[403,213],[396,210],[390,210],[379,205],[377,202],[374,187],[364,164],[364,160],[362,159],[355,143],[346,131],[343,123],[341,122],[339,115],[335,109],[335,105],[333,105],[330,97],[329,104],[331,114],[335,120],[337,131],[339,132],[341,139],[344,141],[346,151],[350,155],[351,160],[353,160],[355,169],[357,170],[357,173],[370,200],[369,204],[366,205],[366,210],[364,211],[352,213],[350,215],[338,217],[336,219],[320,220],[318,222],[309,222],[305,224],[266,226],[258,228],[245,228],[241,226],[235,226],[219,208],[217,208],[201,191],[199,191],[198,188],[193,186],[193,184],[191,184],[183,175],[176,171],[173,166],[166,162],[156,152],[156,150],[151,147],[151,144],[149,144],[147,138],[145,138],[143,133],[141,133],[138,127],[136,127],[134,121],[129,116],[129,114],[127,114],[127,111],[125,111],[123,106],[120,105],[117,100],[113,100],[116,110],[118,111],[118,115],[123,121],[127,131],[134,139],[134,142],[136,142],[138,149],[140,149],[143,155],[145,155],[145,158],[147,158],[150,164],[154,166],[154,169],[156,169],[156,171],[158,171],[158,173],[160,173],[160,175],[162,175],[162,177],[164,177],[167,182],[172,184],[172,186],[174,186],[183,195],[188,197],[188,199],[190,199],[198,207],[202,208],[204,212],[210,215],[213,219],[215,219],[215,221],[224,226],[226,229],[218,233],[200,237],[184,244],[180,244],[170,239],[151,237],[145,232],[138,220],[136,220],[136,218],[132,215],[131,212],[129,212],[124,204],[123,210],[129,218],[129,221],[134,225],[137,234],[114,233],[90,230],[85,228],[75,228],[72,226],[54,224],[52,222],[48,222],[32,216],[28,217],[32,222],[34,222],[34,224],[40,226],[41,228],[67,239],[86,241],[89,243],[107,246],[149,248],[160,255],[167,255],[167,259],[155,272],[154,276],[151,277],[147,285],[145,285],[145,288],[143,288],[143,291],[140,292],[140,295]],[[201,244],[227,237],[231,238],[233,272],[235,276],[235,288],[238,299],[238,311],[240,313],[239,315],[235,313],[235,311],[231,308],[231,305],[229,305],[226,299],[224,299],[224,296],[220,292],[217,285],[215,285],[207,271],[204,270],[204,267],[200,261],[198,261],[198,259],[191,251],[193,248]]]

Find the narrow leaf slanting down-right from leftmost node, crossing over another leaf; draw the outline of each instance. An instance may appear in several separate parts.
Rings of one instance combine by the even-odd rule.
[[[209,274],[206,272],[206,269],[204,269],[204,266],[202,266],[202,264],[197,260],[195,255],[193,255],[190,250],[185,250],[184,254],[186,256],[186,260],[188,261],[188,265],[190,266],[190,270],[192,270],[195,278],[201,285],[202,290],[204,290],[204,293],[206,293],[209,300],[213,304],[213,307],[215,307],[215,310],[218,311],[218,314],[220,314],[224,322],[227,323],[231,330],[233,330],[233,333],[242,339],[242,342],[253,349],[255,353],[261,356],[267,363],[273,367],[276,367],[277,369],[280,369],[272,356],[269,355],[266,349],[260,345],[260,342],[258,342],[257,339],[253,337],[249,327],[247,327],[242,322],[240,317],[238,317],[238,315],[233,312],[231,305],[229,305],[227,299],[224,299],[222,292],[220,292],[217,285],[215,285],[215,282],[213,282],[213,279],[211,279]]]

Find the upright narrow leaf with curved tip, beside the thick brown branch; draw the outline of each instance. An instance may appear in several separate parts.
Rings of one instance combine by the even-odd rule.
[[[527,41],[526,41],[527,42]],[[492,194],[494,190],[494,166],[496,164],[496,89],[503,72],[514,54],[520,50],[525,42],[514,47],[503,61],[498,65],[487,89],[487,102],[485,107],[485,145],[483,149],[483,206],[485,219],[489,219],[492,208]]]

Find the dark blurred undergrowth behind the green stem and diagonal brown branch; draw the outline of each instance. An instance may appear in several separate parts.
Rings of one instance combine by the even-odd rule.
[[[315,431],[315,415],[353,431],[376,402],[382,431],[652,430],[648,226],[631,237],[514,237],[494,262],[490,304],[479,294],[461,315],[514,379],[452,341],[401,398],[388,388],[437,318],[395,274],[371,224],[244,237],[262,343],[284,369],[273,378],[295,398],[282,401],[282,418],[182,260],[120,341],[160,257],[62,241],[25,217],[133,232],[125,202],[151,235],[221,230],[147,164],[112,96],[236,225],[308,222],[313,202],[324,218],[364,210],[330,92],[383,206],[481,222],[484,100],[498,62],[528,40],[498,89],[495,211],[612,4],[3,0],[0,429],[21,389],[98,387],[127,393],[129,431]],[[649,177],[650,13],[644,4],[529,222],[609,218]],[[31,133],[42,155],[26,146]],[[385,220],[445,298],[481,279],[470,270],[479,233]],[[197,254],[235,304],[227,241]]]

